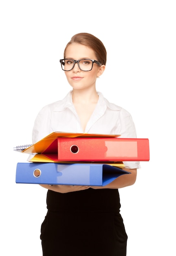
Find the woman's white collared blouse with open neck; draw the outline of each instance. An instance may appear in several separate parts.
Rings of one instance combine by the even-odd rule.
[[[121,135],[121,138],[136,138],[132,117],[125,109],[110,103],[97,92],[99,100],[85,131],[72,101],[72,91],[63,100],[51,103],[38,113],[32,134],[36,143],[52,132],[78,132]],[[126,168],[140,168],[140,162],[123,162]]]

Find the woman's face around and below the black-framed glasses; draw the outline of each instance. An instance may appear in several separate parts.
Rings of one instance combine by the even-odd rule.
[[[92,59],[97,61],[94,51],[85,45],[79,43],[70,44],[66,49],[65,58],[72,60],[80,59]],[[95,87],[96,79],[100,76],[105,69],[105,65],[93,64],[92,70],[82,71],[79,69],[77,63],[70,71],[65,71],[68,83],[73,87],[73,89],[86,89],[90,87]]]

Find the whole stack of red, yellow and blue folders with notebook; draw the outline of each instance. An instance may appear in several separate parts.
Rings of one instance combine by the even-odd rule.
[[[129,174],[123,161],[149,161],[149,140],[52,132],[35,144],[15,151],[31,155],[18,163],[16,183],[105,186]]]

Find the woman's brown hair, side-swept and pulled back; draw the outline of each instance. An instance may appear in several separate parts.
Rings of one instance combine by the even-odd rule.
[[[97,57],[97,61],[101,62],[102,65],[106,65],[106,48],[104,47],[101,40],[89,33],[79,33],[72,36],[70,42],[65,47],[64,58],[66,56],[66,49],[68,45],[72,43],[79,43],[90,47]]]

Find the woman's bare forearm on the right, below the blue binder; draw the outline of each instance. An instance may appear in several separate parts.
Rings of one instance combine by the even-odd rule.
[[[137,169],[123,168],[125,171],[129,171],[129,174],[119,176],[106,186],[91,186],[92,189],[121,189],[125,186],[131,186],[136,181]]]

